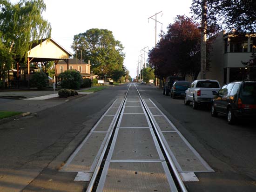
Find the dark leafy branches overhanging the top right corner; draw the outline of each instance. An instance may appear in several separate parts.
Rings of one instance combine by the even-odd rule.
[[[191,10],[201,20],[202,0],[193,0]],[[256,32],[255,0],[207,0],[208,34],[220,28],[237,33]]]

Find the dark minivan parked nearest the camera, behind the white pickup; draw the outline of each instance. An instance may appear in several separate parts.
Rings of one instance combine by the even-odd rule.
[[[211,115],[223,113],[228,116],[228,123],[235,123],[238,118],[256,118],[256,81],[236,81],[224,85],[215,93]]]

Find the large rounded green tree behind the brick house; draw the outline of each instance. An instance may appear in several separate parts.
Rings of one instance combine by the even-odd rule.
[[[114,71],[122,70],[124,47],[107,29],[89,29],[74,35],[71,48],[75,57],[90,60],[94,73],[102,79],[105,75],[111,76]]]

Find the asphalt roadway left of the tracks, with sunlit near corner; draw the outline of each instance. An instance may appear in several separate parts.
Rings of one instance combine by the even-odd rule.
[[[81,192],[88,183],[73,182],[77,173],[58,169],[127,89],[110,86],[1,124],[0,192]]]

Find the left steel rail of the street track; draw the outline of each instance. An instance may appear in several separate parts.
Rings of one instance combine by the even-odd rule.
[[[130,86],[131,86],[131,84],[130,84]],[[121,107],[120,107],[119,110],[118,110],[118,115],[115,117],[115,121],[114,121],[114,123],[113,123],[114,126],[111,128],[111,130],[110,130],[110,132],[109,132],[108,139],[107,139],[106,144],[105,144],[105,146],[104,146],[104,148],[103,148],[103,150],[102,150],[101,156],[100,156],[100,158],[99,158],[99,161],[98,161],[98,163],[97,163],[97,166],[96,166],[96,168],[95,168],[95,171],[94,171],[94,173],[93,173],[93,176],[92,176],[92,178],[91,178],[91,180],[90,180],[90,183],[89,183],[89,185],[88,185],[88,187],[87,187],[86,192],[91,192],[91,191],[93,190],[95,180],[96,180],[97,175],[98,175],[98,173],[99,173],[99,171],[100,171],[100,168],[101,168],[102,160],[103,160],[103,158],[104,158],[104,156],[105,156],[105,153],[106,153],[106,151],[107,151],[109,141],[110,141],[111,136],[112,136],[112,134],[113,134],[113,131],[114,131],[114,129],[115,129],[115,125],[116,125],[117,119],[118,119],[118,117],[119,117],[120,114],[121,114],[120,112],[121,112],[121,109],[122,109],[122,107],[123,107],[123,105],[124,105],[124,102],[125,102],[125,99],[126,99],[126,97],[127,97],[127,94],[128,94],[128,92],[129,92],[130,86],[128,87],[128,90],[127,90],[127,92],[126,92],[126,94],[125,94],[125,96],[124,96],[124,99],[123,99],[123,102],[122,102],[122,104],[121,104]]]

